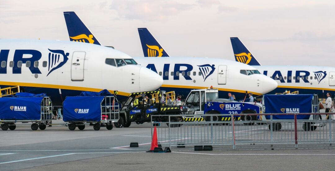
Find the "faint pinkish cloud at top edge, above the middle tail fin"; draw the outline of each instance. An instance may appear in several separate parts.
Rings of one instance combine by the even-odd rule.
[[[146,21],[166,20],[168,17],[190,10],[194,4],[164,0],[115,0],[110,9],[116,10],[120,18]]]

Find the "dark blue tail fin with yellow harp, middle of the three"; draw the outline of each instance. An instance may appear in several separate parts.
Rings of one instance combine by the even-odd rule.
[[[169,57],[147,28],[137,28],[144,57]]]

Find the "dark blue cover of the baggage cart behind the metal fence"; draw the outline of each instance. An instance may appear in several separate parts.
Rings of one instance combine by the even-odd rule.
[[[264,95],[265,113],[312,113],[313,95]],[[309,119],[311,115],[297,115]],[[270,115],[265,116],[270,119]],[[273,115],[273,119],[294,119],[294,115]]]

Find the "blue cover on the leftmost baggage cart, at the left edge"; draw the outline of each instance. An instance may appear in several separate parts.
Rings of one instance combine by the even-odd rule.
[[[0,98],[0,119],[40,120],[43,97]]]

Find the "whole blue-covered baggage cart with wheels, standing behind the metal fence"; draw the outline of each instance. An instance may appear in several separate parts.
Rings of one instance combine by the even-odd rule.
[[[280,120],[293,120],[296,113],[319,113],[319,98],[318,95],[302,95],[302,94],[286,94],[286,95],[264,95],[262,99],[263,113],[287,113],[292,115],[273,115],[273,120],[278,122],[273,123],[273,130],[280,130]],[[309,122],[311,115],[297,115],[297,120],[306,120],[303,124],[305,131],[315,130],[322,124]],[[270,115],[265,115],[267,120],[271,119]],[[319,119],[317,114],[313,114],[313,120]],[[269,129],[271,125],[269,124]]]

